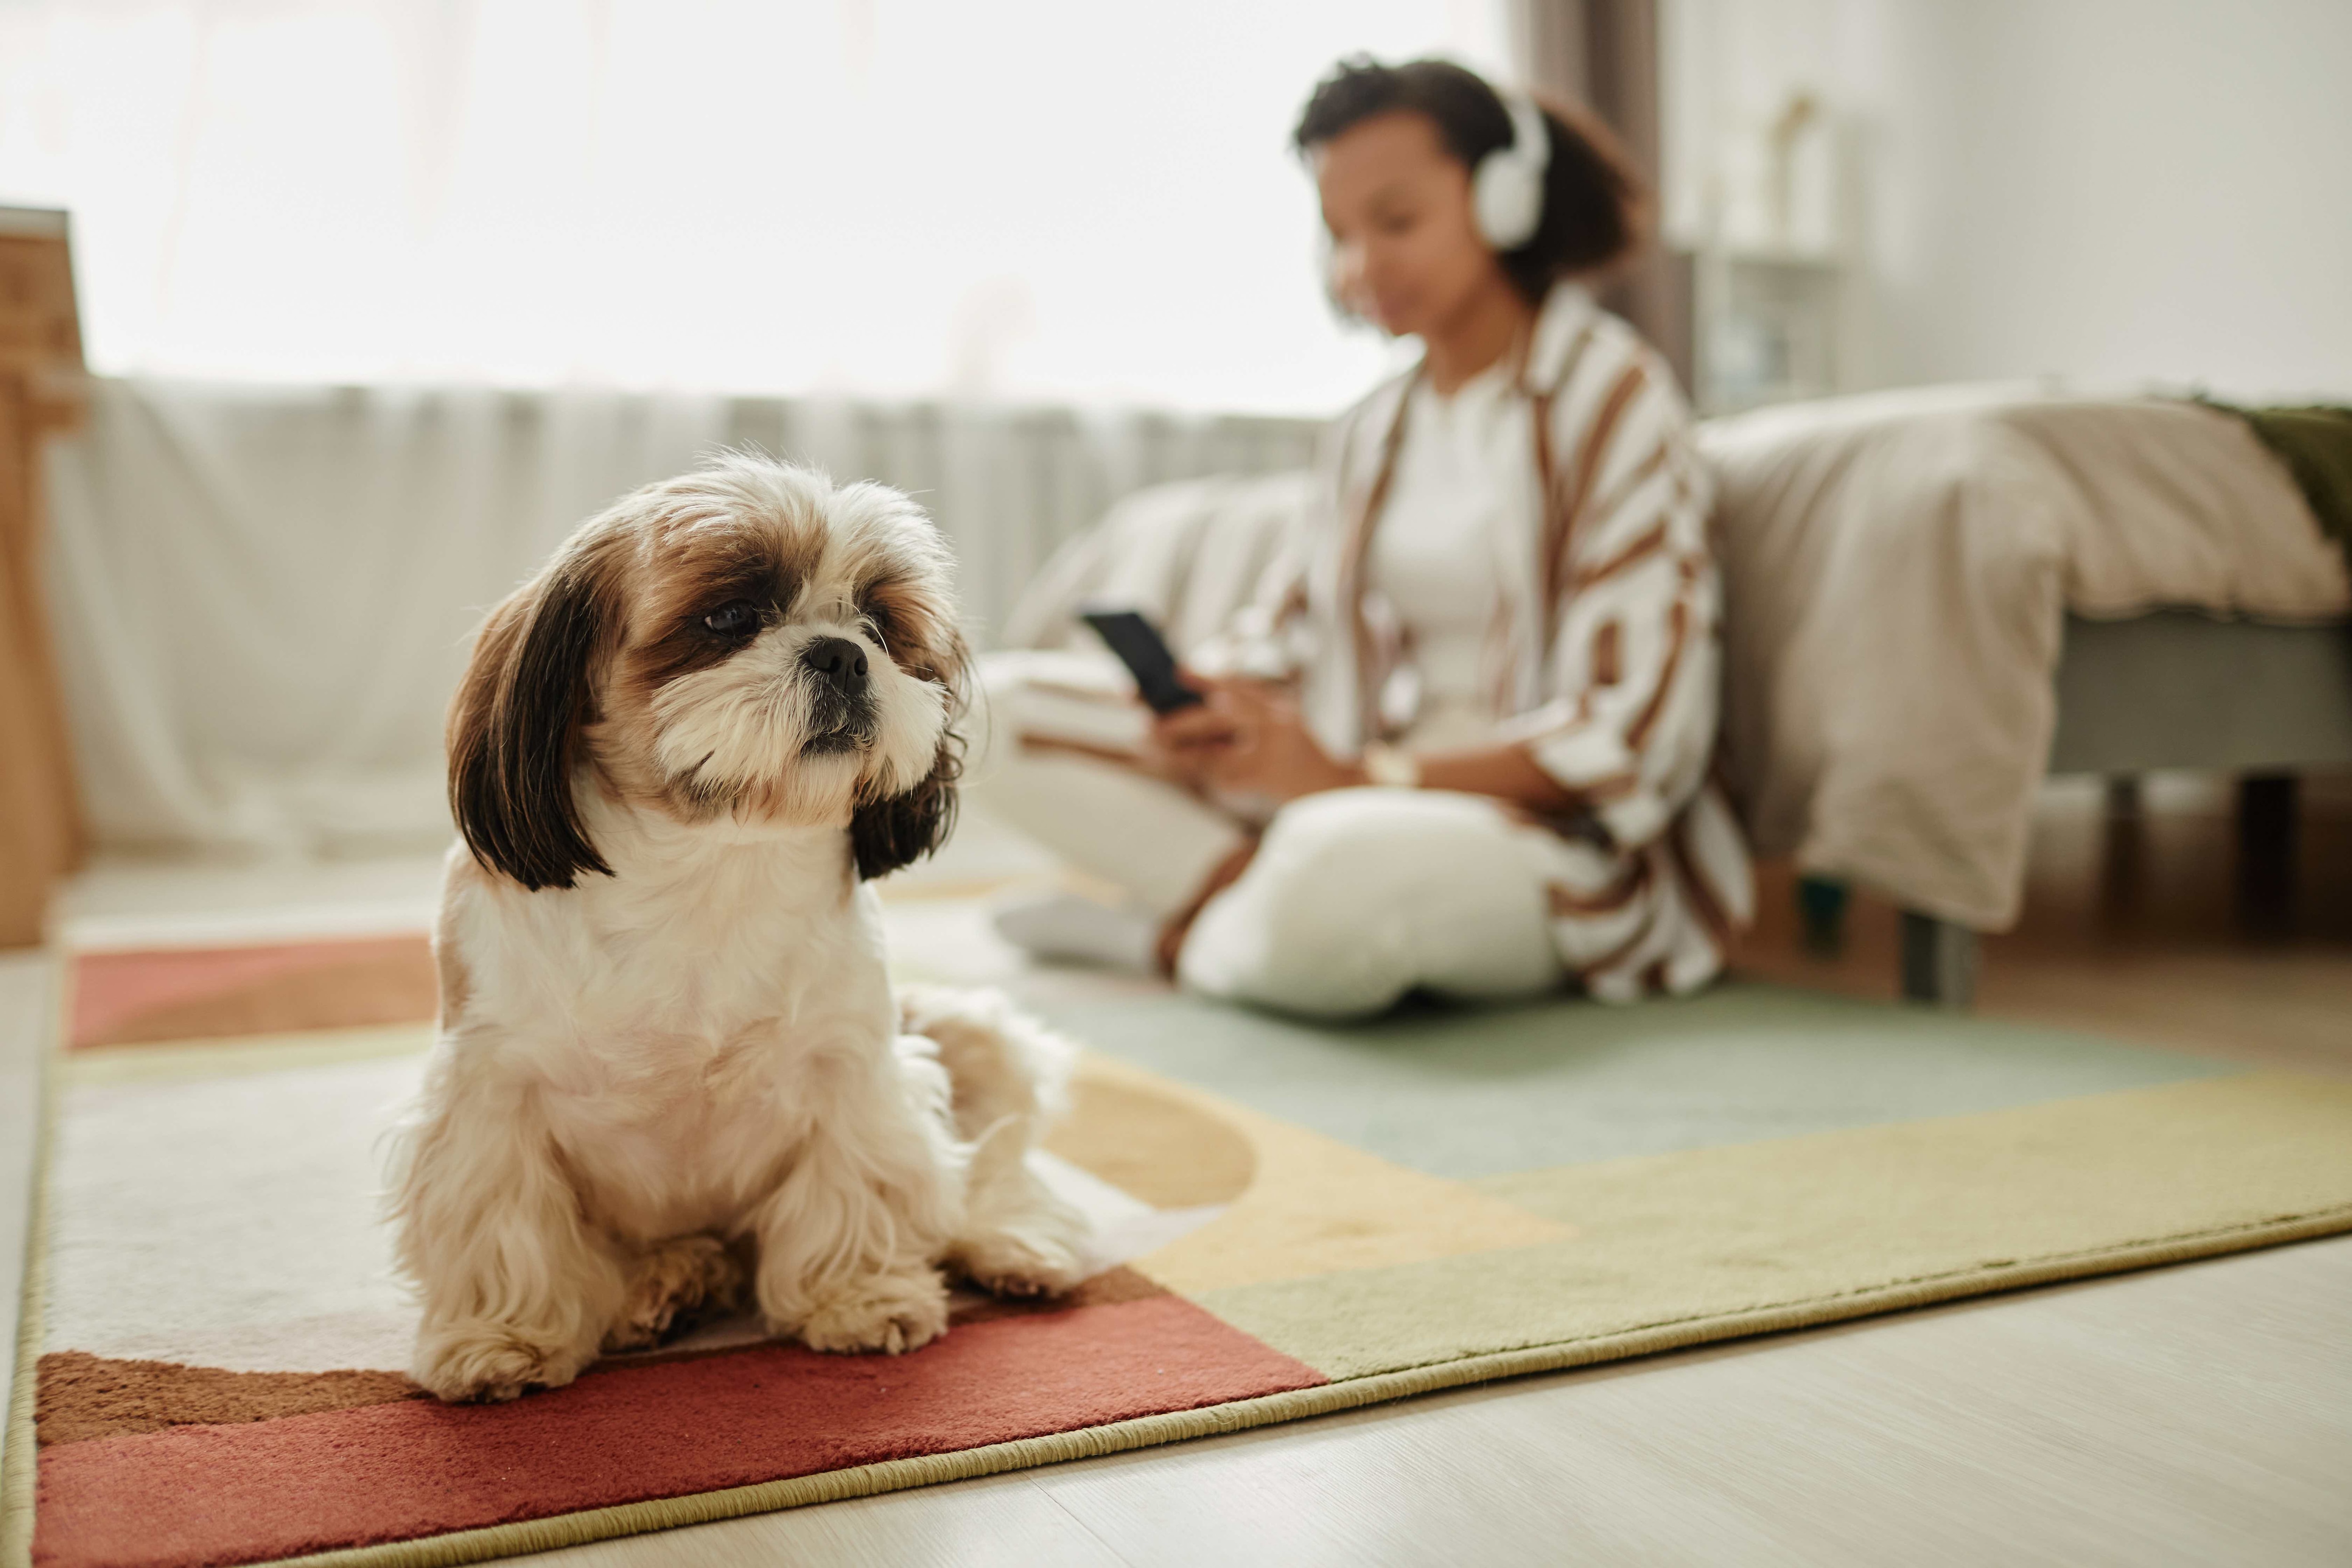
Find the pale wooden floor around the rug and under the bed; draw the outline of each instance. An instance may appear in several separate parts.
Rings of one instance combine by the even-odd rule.
[[[1980,1011],[2352,1072],[2352,788],[2305,792],[2277,931],[2239,929],[2230,844],[2194,780],[2122,827],[2053,788]],[[1790,882],[1766,875],[1743,969],[1893,994],[1893,912],[1858,900],[1846,950],[1811,957]],[[0,966],[0,1013],[38,1011],[33,976]],[[534,1561],[2340,1566],[2347,1476],[2352,1237]]]

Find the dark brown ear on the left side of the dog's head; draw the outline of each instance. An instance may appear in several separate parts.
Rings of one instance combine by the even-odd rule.
[[[449,811],[473,858],[532,889],[612,875],[572,799],[607,592],[560,559],[489,614],[449,705]]]

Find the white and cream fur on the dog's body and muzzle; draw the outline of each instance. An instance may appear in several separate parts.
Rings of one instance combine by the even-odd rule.
[[[524,891],[449,856],[435,943],[459,994],[390,1171],[423,1307],[412,1373],[442,1399],[569,1382],[746,1284],[779,1335],[901,1352],[948,1326],[941,1267],[1023,1293],[1077,1279],[1082,1220],[1023,1161],[1070,1048],[1002,999],[901,1004],[851,865],[854,797],[924,776],[946,691],[809,597],[663,686],[637,736],[666,776],[767,790],[762,813],[581,780],[609,877]],[[779,745],[804,733],[790,661],[816,635],[870,649],[863,752]]]

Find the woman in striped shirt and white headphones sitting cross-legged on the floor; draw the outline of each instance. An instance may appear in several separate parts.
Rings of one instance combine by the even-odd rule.
[[[995,658],[981,797],[1124,893],[1000,929],[1317,1016],[1691,992],[1752,889],[1708,778],[1708,477],[1672,371],[1578,282],[1637,186],[1581,115],[1442,61],[1343,63],[1296,146],[1334,299],[1425,353],[1338,421],[1298,548],[1192,658],[1207,703],[1155,722],[1087,656]]]

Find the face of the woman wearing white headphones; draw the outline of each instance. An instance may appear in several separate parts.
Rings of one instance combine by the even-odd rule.
[[[1510,287],[1470,209],[1470,169],[1414,110],[1374,115],[1315,148],[1331,289],[1383,331],[1428,336]]]

